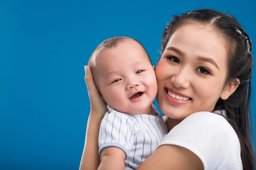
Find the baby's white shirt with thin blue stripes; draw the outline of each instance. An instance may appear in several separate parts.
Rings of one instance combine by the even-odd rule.
[[[128,115],[113,110],[102,119],[99,130],[99,154],[106,147],[118,147],[125,152],[125,170],[136,169],[168,133],[162,116],[152,103],[157,116],[148,114]]]

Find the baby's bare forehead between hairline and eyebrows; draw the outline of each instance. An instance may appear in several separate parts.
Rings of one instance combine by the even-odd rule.
[[[132,69],[137,65],[151,64],[145,48],[134,40],[125,40],[112,48],[100,48],[91,57],[93,70],[99,74],[106,74],[111,70],[119,71]],[[117,66],[123,67],[117,67]]]

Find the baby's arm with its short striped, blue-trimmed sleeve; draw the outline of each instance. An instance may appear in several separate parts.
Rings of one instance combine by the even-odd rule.
[[[124,170],[124,162],[133,146],[136,132],[136,125],[129,115],[116,111],[107,112],[99,130],[98,170]]]

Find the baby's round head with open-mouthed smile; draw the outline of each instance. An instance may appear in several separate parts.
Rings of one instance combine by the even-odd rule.
[[[128,37],[109,38],[93,51],[88,65],[111,108],[136,115],[151,107],[157,94],[157,79],[140,42]]]

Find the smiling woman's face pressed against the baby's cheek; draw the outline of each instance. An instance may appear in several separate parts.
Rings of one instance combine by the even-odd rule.
[[[211,112],[225,98],[227,51],[209,26],[186,24],[172,34],[155,69],[157,102],[166,116],[185,119]]]

